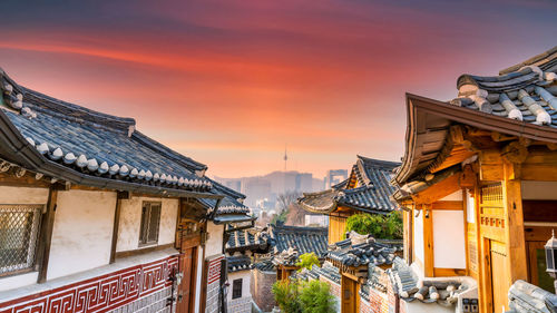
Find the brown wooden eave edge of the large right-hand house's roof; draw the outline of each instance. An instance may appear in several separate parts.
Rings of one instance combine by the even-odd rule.
[[[449,102],[443,102],[412,94],[405,95],[407,97],[407,136],[405,144],[407,150],[402,162],[401,169],[397,173],[394,182],[402,184],[410,177],[409,159],[413,155],[416,146],[416,118],[418,110],[427,110],[430,114],[437,115],[448,120],[466,124],[469,126],[478,127],[486,130],[495,130],[507,135],[525,137],[534,140],[541,140],[547,143],[557,143],[557,129],[549,127],[532,125],[526,121],[515,120],[507,117],[494,116],[487,113],[470,110],[462,107],[453,106]]]

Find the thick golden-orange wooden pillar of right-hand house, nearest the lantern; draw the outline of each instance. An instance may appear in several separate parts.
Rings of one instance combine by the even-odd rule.
[[[526,241],[524,233],[522,193],[520,184],[520,165],[504,164],[504,204],[506,216],[507,260],[509,287],[517,280],[528,280],[526,264]]]

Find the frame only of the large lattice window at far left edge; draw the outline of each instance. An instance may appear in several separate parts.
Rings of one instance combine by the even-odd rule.
[[[19,208],[19,211],[18,211]],[[11,213],[32,213],[31,216],[31,225],[29,233],[25,237],[28,242],[27,244],[27,253],[26,253],[26,262],[19,263],[16,265],[3,265],[0,264],[0,277],[13,276],[19,274],[25,274],[29,272],[35,272],[38,270],[38,258],[40,252],[40,233],[41,233],[41,224],[42,217],[45,214],[45,205],[42,204],[0,204],[0,214],[3,214],[4,211],[8,211],[8,214]],[[23,229],[25,231],[25,229]],[[22,267],[21,265],[26,265]],[[9,270],[9,267],[18,267],[13,270]],[[6,272],[4,272],[6,271]]]

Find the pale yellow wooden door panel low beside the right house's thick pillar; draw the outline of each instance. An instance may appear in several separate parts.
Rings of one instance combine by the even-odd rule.
[[[494,312],[505,313],[508,310],[508,292],[509,283],[507,277],[509,271],[507,268],[507,255],[505,244],[490,241],[490,258],[491,258],[491,291],[494,295]]]

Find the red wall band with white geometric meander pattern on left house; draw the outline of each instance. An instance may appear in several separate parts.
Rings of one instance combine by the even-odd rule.
[[[0,303],[0,313],[104,313],[172,285],[178,256]]]

